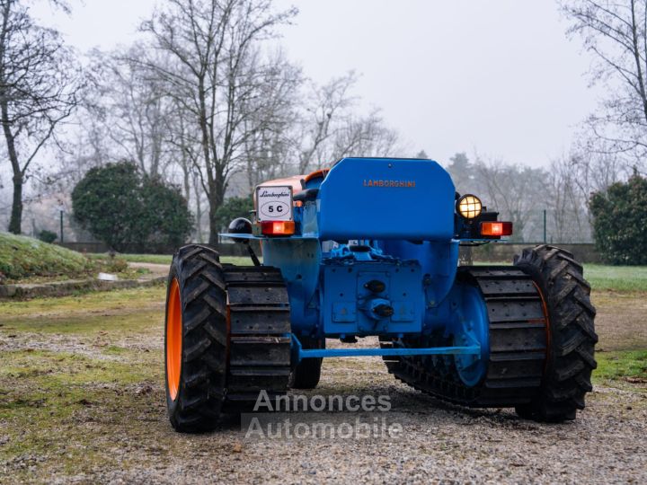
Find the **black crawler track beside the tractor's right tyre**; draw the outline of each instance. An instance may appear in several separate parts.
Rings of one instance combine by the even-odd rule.
[[[490,318],[487,375],[474,387],[460,380],[453,357],[385,357],[391,374],[413,388],[470,407],[512,407],[540,392],[546,357],[546,316],[541,295],[526,273],[512,267],[465,267],[459,276],[479,287]],[[394,346],[431,347],[449,342],[435,336],[382,341]]]

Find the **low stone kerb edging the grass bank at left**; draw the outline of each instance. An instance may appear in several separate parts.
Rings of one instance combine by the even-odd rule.
[[[0,301],[40,298],[43,296],[68,296],[76,292],[111,291],[114,289],[154,287],[166,282],[167,277],[122,279],[102,281],[99,279],[70,279],[51,283],[24,285],[0,285]]]

